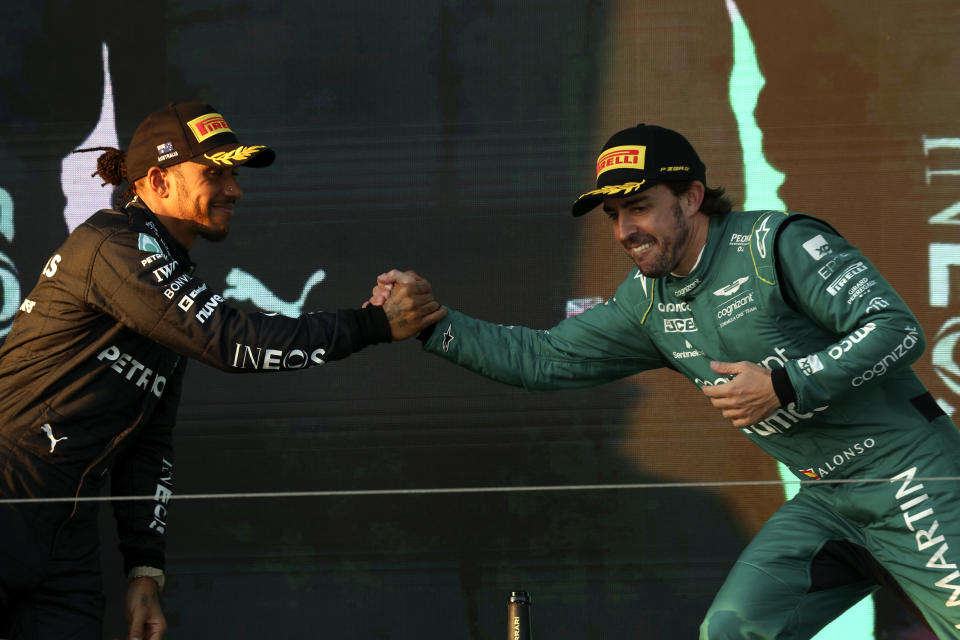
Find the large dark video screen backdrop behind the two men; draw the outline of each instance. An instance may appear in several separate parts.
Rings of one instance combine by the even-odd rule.
[[[232,303],[356,308],[396,267],[451,308],[542,329],[631,267],[605,216],[570,205],[610,134],[646,122],[684,133],[738,209],[808,213],[860,247],[921,322],[920,377],[960,407],[954,2],[8,4],[3,335],[118,195],[71,151],[125,148],[171,102],[209,102],[277,152],[240,170],[230,237],[191,252]],[[664,371],[529,392],[410,341],[275,375],[193,363],[184,394],[170,637],[499,638],[518,589],[536,637],[695,637],[797,488]],[[883,598],[818,638],[921,633]]]

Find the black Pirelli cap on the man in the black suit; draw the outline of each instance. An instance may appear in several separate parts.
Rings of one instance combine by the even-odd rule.
[[[277,154],[263,145],[244,146],[216,107],[183,102],[151,113],[133,133],[127,150],[127,182],[150,167],[198,162],[212,167],[266,167]]]

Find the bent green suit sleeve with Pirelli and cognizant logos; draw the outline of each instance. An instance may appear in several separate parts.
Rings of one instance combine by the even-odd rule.
[[[785,297],[832,336],[823,349],[784,367],[799,411],[882,384],[923,353],[923,331],[906,303],[876,267],[828,225],[788,218],[779,229],[775,251]]]

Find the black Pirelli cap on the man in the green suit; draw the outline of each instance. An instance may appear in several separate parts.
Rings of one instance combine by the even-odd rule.
[[[607,140],[597,158],[597,188],[573,203],[582,216],[606,196],[622,197],[666,181],[699,180],[707,184],[707,167],[693,146],[672,129],[638,124]]]

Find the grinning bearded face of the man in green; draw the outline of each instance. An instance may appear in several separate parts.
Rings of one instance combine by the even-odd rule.
[[[614,237],[648,278],[686,275],[696,264],[706,240],[702,195],[696,191],[676,196],[659,184],[636,195],[604,198]]]

